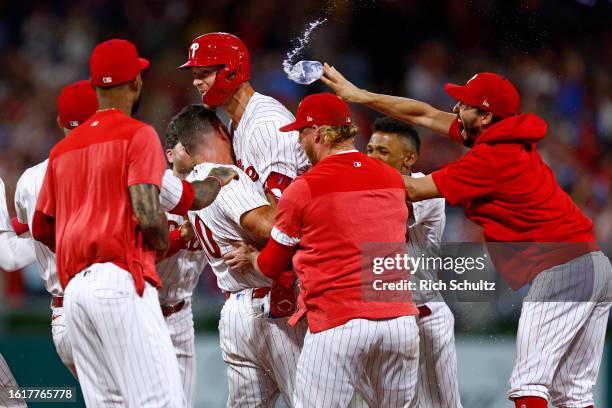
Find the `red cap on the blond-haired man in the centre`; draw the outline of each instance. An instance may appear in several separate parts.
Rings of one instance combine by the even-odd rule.
[[[348,105],[332,93],[308,95],[300,102],[295,122],[283,126],[281,132],[300,130],[306,126],[343,126],[353,123]]]

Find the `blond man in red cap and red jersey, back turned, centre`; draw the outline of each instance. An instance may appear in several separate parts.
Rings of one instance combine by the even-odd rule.
[[[300,131],[314,167],[283,194],[263,251],[245,245],[236,251],[271,278],[293,258],[309,326],[294,406],[346,407],[364,376],[373,389],[370,406],[418,406],[417,309],[406,296],[368,301],[362,283],[364,244],[404,246],[408,211],[402,179],[355,150],[357,128],[335,95],[306,97],[296,116],[280,130]]]

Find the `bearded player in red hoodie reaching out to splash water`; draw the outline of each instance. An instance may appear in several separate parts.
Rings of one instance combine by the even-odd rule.
[[[536,146],[546,122],[520,113],[518,91],[488,72],[446,84],[453,113],[358,89],[325,64],[339,96],[447,134],[471,150],[432,174],[404,176],[411,201],[444,197],[483,227],[496,268],[513,289],[531,284],[517,333],[508,398],[516,407],[592,407],[612,303],[610,260],[593,223],[561,189]],[[520,243],[500,245],[500,243]],[[585,357],[588,356],[588,357]]]

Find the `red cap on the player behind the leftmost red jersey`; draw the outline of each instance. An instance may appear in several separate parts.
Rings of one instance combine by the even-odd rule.
[[[57,114],[66,129],[74,129],[98,110],[98,97],[89,81],[66,85],[57,97]]]

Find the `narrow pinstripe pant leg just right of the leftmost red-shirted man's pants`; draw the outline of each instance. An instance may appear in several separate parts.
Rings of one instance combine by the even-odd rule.
[[[181,371],[183,393],[185,394],[185,406],[193,407],[197,373],[191,298],[185,299],[185,306],[183,306],[181,310],[171,314],[165,319]]]

